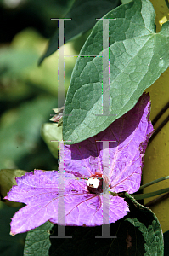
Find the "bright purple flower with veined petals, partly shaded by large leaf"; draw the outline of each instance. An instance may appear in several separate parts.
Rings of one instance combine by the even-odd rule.
[[[103,200],[109,206],[107,223],[127,215],[127,202],[109,192],[132,194],[139,189],[144,152],[153,133],[149,112],[149,96],[144,94],[132,110],[98,135],[81,143],[62,144],[59,172],[35,170],[17,177],[17,186],[5,199],[26,206],[14,214],[11,234],[32,230],[48,220],[58,224],[63,195],[65,225],[104,224]],[[60,176],[64,177],[61,190]]]

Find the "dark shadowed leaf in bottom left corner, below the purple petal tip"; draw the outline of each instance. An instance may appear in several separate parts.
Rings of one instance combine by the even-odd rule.
[[[23,256],[26,233],[9,235],[11,218],[20,208],[5,206],[0,209],[0,252],[1,256]]]

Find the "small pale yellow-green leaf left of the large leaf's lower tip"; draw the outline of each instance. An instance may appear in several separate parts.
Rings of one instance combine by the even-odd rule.
[[[57,141],[62,140],[62,127],[58,127],[57,124],[43,124],[41,127],[41,136],[45,143],[47,143],[50,152],[58,159],[59,143]]]

